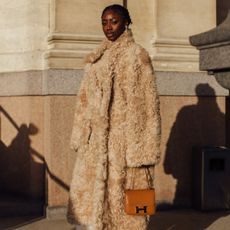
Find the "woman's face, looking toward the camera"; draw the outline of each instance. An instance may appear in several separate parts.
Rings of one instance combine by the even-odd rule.
[[[124,32],[125,25],[127,25],[126,20],[114,11],[107,10],[102,15],[102,28],[110,41],[115,41]]]

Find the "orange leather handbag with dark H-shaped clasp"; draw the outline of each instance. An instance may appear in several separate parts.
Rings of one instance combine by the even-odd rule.
[[[151,188],[148,179],[148,176],[150,176],[148,168],[145,168],[145,173],[148,189],[129,189],[125,191],[125,212],[128,215],[145,216],[153,215],[156,212],[155,190]],[[134,180],[132,184],[134,187]]]

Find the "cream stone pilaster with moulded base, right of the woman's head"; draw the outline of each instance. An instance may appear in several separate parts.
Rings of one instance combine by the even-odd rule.
[[[215,0],[128,0],[127,6],[135,38],[150,52],[156,71],[199,71],[188,37],[216,25]]]

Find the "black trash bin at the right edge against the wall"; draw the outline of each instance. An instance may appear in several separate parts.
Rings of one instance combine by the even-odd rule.
[[[230,149],[194,147],[193,207],[199,210],[230,209]]]

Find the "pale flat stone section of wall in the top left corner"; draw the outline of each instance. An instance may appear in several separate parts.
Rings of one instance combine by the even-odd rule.
[[[0,2],[0,72],[43,69],[49,1]]]

